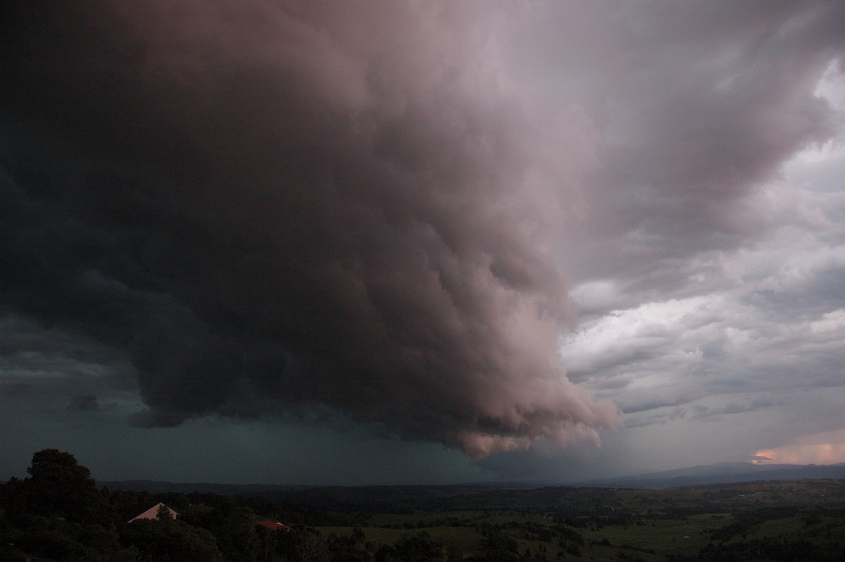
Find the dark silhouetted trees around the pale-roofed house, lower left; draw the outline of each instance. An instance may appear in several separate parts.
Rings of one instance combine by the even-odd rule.
[[[314,524],[348,521],[311,506],[98,488],[87,467],[56,449],[36,452],[26,472],[29,477],[0,485],[0,559],[352,562],[374,560],[378,552],[363,533],[353,533],[352,539],[323,537]],[[162,513],[128,522],[158,502],[176,510],[178,518]],[[286,521],[291,529],[266,529],[256,525],[260,519]]]

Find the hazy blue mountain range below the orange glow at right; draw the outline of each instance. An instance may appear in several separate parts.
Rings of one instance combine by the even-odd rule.
[[[835,465],[759,465],[751,462],[722,462],[637,476],[602,478],[577,485],[602,488],[677,488],[702,484],[754,482],[755,480],[803,480],[804,478],[845,478],[845,462]]]

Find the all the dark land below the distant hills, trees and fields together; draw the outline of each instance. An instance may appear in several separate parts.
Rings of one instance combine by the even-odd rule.
[[[843,480],[455,488],[461,494],[354,488],[354,502],[317,494],[323,501],[307,505],[98,488],[58,450],[35,453],[27,472],[0,486],[0,561],[845,560]],[[160,502],[178,518],[160,509],[157,518],[128,522]],[[290,529],[256,525],[263,520]]]

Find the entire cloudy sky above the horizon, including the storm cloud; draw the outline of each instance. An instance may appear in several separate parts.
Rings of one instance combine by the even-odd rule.
[[[845,462],[845,3],[0,22],[0,478]]]

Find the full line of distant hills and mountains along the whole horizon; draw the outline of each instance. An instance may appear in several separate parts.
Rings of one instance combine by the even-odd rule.
[[[677,488],[759,480],[845,479],[845,463],[835,465],[756,465],[723,462],[629,477],[603,478],[576,483],[580,488]],[[150,494],[176,492],[217,494],[228,497],[260,496],[278,502],[306,505],[402,505],[442,502],[470,496],[495,496],[509,491],[548,487],[548,483],[482,483],[395,486],[308,486],[276,484],[171,483],[153,480],[99,482],[112,490],[138,490]]]

